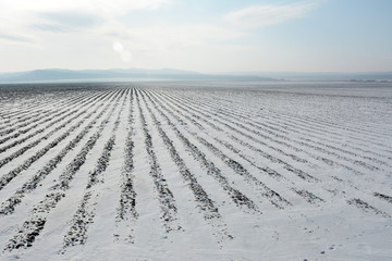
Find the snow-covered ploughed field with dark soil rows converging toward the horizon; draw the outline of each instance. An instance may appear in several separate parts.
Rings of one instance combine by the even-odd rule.
[[[0,86],[0,260],[392,260],[392,84]]]

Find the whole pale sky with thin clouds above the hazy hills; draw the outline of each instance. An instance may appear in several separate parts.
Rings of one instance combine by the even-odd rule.
[[[0,72],[392,71],[391,0],[0,0]]]

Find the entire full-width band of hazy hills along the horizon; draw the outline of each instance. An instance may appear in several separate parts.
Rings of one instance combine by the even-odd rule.
[[[392,82],[392,72],[372,73],[295,73],[295,72],[242,72],[203,74],[173,69],[113,69],[62,70],[48,69],[15,73],[0,73],[0,84],[41,82],[88,82],[132,79],[192,79],[192,80],[352,80]]]

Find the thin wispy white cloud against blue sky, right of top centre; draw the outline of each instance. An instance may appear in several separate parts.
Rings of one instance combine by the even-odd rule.
[[[229,13],[224,18],[243,27],[262,27],[298,18],[318,5],[319,1],[302,1],[291,4],[264,4]]]

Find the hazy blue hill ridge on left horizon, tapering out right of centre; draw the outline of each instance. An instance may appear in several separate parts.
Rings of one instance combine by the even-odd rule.
[[[68,82],[68,80],[111,80],[111,79],[206,79],[206,80],[274,80],[257,75],[201,74],[189,71],[161,69],[115,69],[115,70],[35,70],[17,73],[1,73],[0,84]]]

